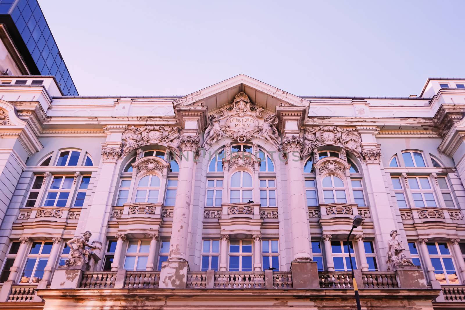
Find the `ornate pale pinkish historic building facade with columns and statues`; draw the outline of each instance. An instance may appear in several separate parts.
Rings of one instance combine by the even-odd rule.
[[[321,98],[4,78],[5,309],[356,309],[354,286],[362,309],[465,308],[465,79]]]

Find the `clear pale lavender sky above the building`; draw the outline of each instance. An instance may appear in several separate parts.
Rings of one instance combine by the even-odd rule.
[[[39,0],[80,95],[186,95],[239,73],[295,95],[465,77],[464,0]]]

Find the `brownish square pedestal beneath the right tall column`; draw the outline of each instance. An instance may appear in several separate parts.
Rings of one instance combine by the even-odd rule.
[[[293,261],[291,263],[292,288],[319,289],[318,267],[312,261]]]

